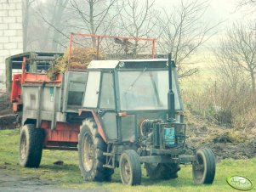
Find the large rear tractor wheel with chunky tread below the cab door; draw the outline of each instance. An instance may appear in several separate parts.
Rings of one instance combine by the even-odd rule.
[[[103,167],[106,151],[105,141],[97,131],[96,123],[89,118],[82,122],[78,134],[79,168],[85,181],[110,182],[114,170]]]

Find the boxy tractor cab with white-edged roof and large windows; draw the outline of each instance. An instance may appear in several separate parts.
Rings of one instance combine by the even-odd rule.
[[[175,118],[183,122],[177,73],[172,73]],[[138,142],[142,121],[167,120],[168,59],[92,61],[82,109],[95,110],[109,142]]]

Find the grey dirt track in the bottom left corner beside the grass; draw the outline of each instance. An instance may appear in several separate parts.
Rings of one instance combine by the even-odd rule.
[[[53,183],[42,181],[39,178],[18,176],[17,172],[0,167],[0,191],[4,192],[98,192],[99,189],[63,189]],[[104,192],[105,190],[102,190]]]

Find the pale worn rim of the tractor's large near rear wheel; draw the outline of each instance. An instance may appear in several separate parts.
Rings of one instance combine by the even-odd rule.
[[[88,133],[83,136],[82,164],[87,172],[89,172],[94,165],[94,142],[93,138]]]

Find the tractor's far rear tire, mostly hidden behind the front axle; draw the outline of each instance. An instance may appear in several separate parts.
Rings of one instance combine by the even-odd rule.
[[[178,178],[180,170],[178,163],[145,163],[147,176],[151,179]]]

